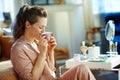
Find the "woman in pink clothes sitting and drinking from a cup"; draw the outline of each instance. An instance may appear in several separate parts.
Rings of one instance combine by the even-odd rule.
[[[43,32],[47,13],[39,6],[20,8],[13,26],[15,43],[11,48],[11,61],[21,80],[95,80],[85,65],[76,66],[60,78],[55,76],[54,36],[47,41]]]

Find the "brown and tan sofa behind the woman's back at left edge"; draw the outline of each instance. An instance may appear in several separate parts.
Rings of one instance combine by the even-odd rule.
[[[0,36],[0,80],[18,80],[10,61],[11,36]]]

